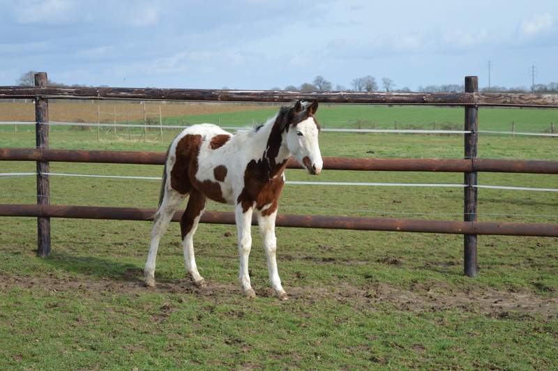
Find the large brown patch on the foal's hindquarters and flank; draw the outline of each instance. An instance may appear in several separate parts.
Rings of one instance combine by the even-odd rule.
[[[191,134],[184,135],[176,144],[176,162],[170,172],[171,187],[181,193],[181,195],[190,193],[190,197],[193,190],[199,190],[200,193],[213,199],[213,201],[225,204],[227,200],[223,197],[219,183],[211,180],[198,181],[196,179],[199,167],[197,156],[201,146],[202,135]]]

